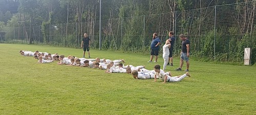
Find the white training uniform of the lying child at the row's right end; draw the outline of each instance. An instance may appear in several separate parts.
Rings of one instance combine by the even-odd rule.
[[[169,76],[169,73],[164,73],[163,70],[160,70],[160,73],[157,73],[155,74],[159,79],[161,79],[162,81],[164,81],[164,76],[166,75],[167,76],[167,79],[166,79],[166,82],[176,82],[176,81],[181,81],[183,78],[186,77],[186,74],[182,75],[181,77],[170,77]]]

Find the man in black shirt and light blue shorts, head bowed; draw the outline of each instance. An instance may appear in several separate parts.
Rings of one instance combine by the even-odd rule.
[[[182,65],[183,65],[183,60],[186,61],[187,63],[187,69],[185,70],[186,72],[188,72],[188,68],[189,68],[189,45],[190,45],[190,41],[188,40],[188,38],[185,37],[184,34],[181,34],[180,39],[182,40],[181,42],[181,52],[180,52],[180,67],[176,68],[177,71],[181,71]]]

